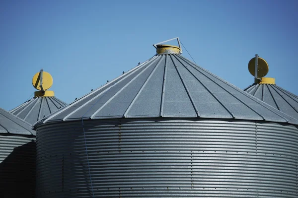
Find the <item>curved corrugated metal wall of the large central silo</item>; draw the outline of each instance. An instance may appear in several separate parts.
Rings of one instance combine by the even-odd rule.
[[[298,197],[292,125],[125,119],[84,131],[89,166],[81,122],[37,129],[38,198]]]

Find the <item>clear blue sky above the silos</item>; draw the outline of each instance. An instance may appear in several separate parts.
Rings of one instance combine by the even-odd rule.
[[[298,95],[297,10],[297,0],[1,0],[0,107],[25,102],[40,68],[70,103],[177,36],[198,65],[242,89],[259,54],[267,77]]]

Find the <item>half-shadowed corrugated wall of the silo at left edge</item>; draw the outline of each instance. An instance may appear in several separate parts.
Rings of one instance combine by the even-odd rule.
[[[0,198],[35,197],[34,135],[0,133]]]

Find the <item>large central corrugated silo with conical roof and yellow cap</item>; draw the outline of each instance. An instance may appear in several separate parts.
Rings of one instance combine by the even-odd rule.
[[[298,120],[157,45],[39,121],[38,198],[298,195]]]

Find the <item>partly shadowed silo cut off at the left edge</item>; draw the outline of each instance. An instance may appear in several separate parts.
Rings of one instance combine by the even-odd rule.
[[[0,197],[35,197],[35,132],[0,108]]]

